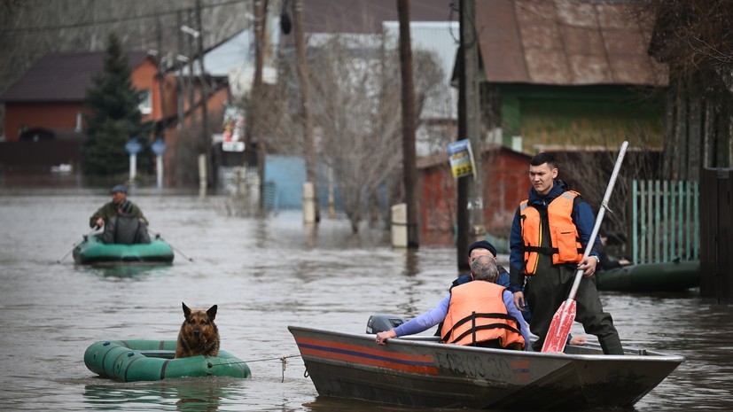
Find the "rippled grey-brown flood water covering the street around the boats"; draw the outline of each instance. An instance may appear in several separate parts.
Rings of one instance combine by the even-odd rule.
[[[162,267],[77,266],[71,255],[57,263],[109,198],[105,190],[0,189],[3,410],[416,410],[319,398],[287,326],[363,333],[371,314],[418,315],[457,275],[453,249],[408,253],[381,230],[352,236],[343,218],[324,217],[314,229],[299,212],[232,217],[223,196],[143,190],[129,198],[192,262],[176,254]],[[632,410],[733,410],[729,306],[694,290],[602,299],[624,345],[687,358]],[[99,340],[175,339],[181,302],[218,305],[222,349],[247,361],[251,379],[124,384],[85,367],[85,349]]]

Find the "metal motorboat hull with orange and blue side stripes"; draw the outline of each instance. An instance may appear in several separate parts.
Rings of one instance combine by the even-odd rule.
[[[421,408],[565,410],[634,405],[684,361],[682,356],[598,346],[541,354],[443,345],[290,326],[323,396]]]

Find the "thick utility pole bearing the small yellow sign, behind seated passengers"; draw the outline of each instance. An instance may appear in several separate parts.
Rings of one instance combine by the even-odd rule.
[[[459,74],[458,138],[468,138],[476,167],[472,176],[458,179],[458,267],[464,268],[468,246],[486,237],[484,226],[483,176],[481,156],[479,39],[476,33],[475,0],[461,0],[461,63]],[[463,110],[462,110],[463,109]],[[471,180],[472,179],[472,180]]]

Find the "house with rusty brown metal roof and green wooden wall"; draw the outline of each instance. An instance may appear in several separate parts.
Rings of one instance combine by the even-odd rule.
[[[647,54],[637,2],[476,3],[487,136],[518,152],[552,145],[659,150],[667,67]]]

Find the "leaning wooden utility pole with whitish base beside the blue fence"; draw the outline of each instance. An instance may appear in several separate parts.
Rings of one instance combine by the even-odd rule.
[[[316,143],[313,139],[313,115],[310,109],[310,80],[308,79],[308,58],[306,56],[306,34],[303,19],[302,0],[293,0],[292,15],[295,20],[295,48],[298,52],[298,77],[300,78],[300,98],[303,106],[303,133],[306,145],[306,175],[313,185],[315,196],[315,222],[321,221],[318,197],[318,176],[316,175]]]

